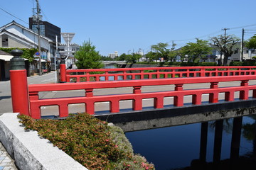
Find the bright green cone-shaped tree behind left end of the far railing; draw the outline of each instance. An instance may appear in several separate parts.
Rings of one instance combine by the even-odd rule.
[[[75,52],[75,58],[78,60],[75,64],[78,69],[100,69],[104,66],[100,62],[100,52],[95,49],[95,45],[92,45],[90,40],[82,43],[80,49]]]

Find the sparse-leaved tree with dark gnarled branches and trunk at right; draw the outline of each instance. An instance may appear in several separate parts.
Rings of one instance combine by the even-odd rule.
[[[238,45],[239,40],[234,35],[218,35],[217,37],[210,38],[211,45],[224,55],[224,65],[228,64],[228,57],[233,55],[233,49]]]

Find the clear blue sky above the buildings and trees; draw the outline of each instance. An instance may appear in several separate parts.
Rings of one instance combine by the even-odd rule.
[[[172,40],[178,48],[195,38],[223,34],[223,28],[239,38],[245,28],[245,39],[256,33],[255,0],[39,0],[39,4],[43,21],[63,33],[75,33],[72,42],[78,45],[90,38],[101,55],[139,48],[146,53],[151,45],[171,45]],[[28,27],[32,8],[35,0],[2,0],[0,26],[15,20]]]

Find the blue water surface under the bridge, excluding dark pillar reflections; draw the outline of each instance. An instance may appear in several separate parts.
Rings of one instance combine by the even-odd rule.
[[[245,128],[245,125],[247,125],[247,128]],[[247,130],[248,127],[252,130]],[[242,118],[239,157],[248,158],[248,155],[252,154],[253,138],[255,137],[254,128],[255,117],[245,116]],[[220,157],[222,162],[230,159],[232,131],[233,119],[223,120],[223,138]],[[199,159],[201,123],[127,132],[126,136],[132,143],[134,152],[146,157],[147,161],[152,162],[156,169],[189,169],[188,167],[191,167],[191,162]],[[213,162],[214,137],[215,121],[210,121],[208,122],[206,152],[206,162],[208,164]],[[244,166],[242,165],[242,167]],[[208,169],[229,168],[209,168],[208,166]],[[256,169],[256,166],[252,163],[250,168],[245,169]]]

